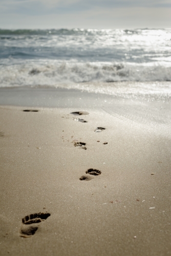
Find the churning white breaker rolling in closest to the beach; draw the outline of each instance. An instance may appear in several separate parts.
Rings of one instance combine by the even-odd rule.
[[[1,65],[0,86],[56,86],[59,83],[171,81],[171,65],[163,62],[27,61]]]

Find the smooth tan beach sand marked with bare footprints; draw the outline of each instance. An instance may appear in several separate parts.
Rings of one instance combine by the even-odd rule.
[[[116,105],[1,105],[1,255],[171,255],[168,109]]]

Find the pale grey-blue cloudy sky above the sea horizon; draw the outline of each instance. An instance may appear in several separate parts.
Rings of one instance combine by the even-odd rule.
[[[0,28],[171,28],[171,0],[0,0]]]

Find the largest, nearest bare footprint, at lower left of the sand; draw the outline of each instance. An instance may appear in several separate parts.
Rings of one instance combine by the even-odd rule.
[[[22,219],[23,226],[20,230],[20,237],[31,237],[38,229],[35,223],[45,221],[50,216],[49,213],[39,212],[38,214],[27,215]],[[32,224],[32,225],[30,225]]]

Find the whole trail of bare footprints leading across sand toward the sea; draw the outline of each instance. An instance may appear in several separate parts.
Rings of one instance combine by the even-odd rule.
[[[38,110],[23,110],[24,112],[38,112]],[[73,115],[88,115],[88,112],[72,112],[71,114]],[[79,122],[87,122],[83,119],[75,119],[76,121]],[[95,132],[102,132],[103,130],[105,130],[105,128],[103,127],[96,127]],[[103,144],[106,144],[103,143]],[[86,147],[86,143],[85,142],[74,142],[74,146],[82,148],[84,150],[87,150]],[[97,170],[97,169],[93,169],[90,168],[86,171],[86,175],[82,175],[79,180],[81,181],[90,181],[91,179],[93,179],[93,176],[98,176],[101,175],[101,171]],[[39,212],[38,214],[30,214],[25,216],[22,219],[22,227],[20,229],[20,237],[24,237],[24,238],[29,238],[32,237],[35,232],[38,229],[38,223],[41,223],[43,221],[45,221],[48,217],[50,217],[51,214],[49,214],[48,212],[44,213],[44,212]]]

